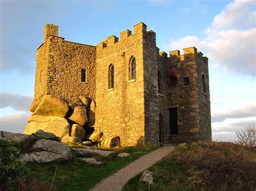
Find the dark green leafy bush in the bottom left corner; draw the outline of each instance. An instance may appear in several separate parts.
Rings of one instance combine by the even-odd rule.
[[[18,162],[19,149],[14,142],[0,139],[0,190],[14,186],[18,179],[29,172],[25,162]]]

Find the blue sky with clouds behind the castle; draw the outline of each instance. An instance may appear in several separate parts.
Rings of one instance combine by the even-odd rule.
[[[23,132],[33,100],[44,25],[97,45],[143,22],[160,51],[195,46],[209,58],[212,137],[234,141],[256,121],[256,1],[0,0],[0,130]]]

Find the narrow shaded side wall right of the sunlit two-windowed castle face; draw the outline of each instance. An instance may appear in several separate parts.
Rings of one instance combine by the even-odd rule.
[[[158,102],[158,54],[156,47],[156,33],[148,31],[145,34],[143,46],[144,59],[144,91],[145,91],[145,142],[159,142],[159,112]]]

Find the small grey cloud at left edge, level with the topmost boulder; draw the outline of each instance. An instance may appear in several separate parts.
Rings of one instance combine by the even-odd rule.
[[[29,111],[32,101],[32,96],[22,96],[9,92],[0,93],[0,108],[11,107],[18,111]]]

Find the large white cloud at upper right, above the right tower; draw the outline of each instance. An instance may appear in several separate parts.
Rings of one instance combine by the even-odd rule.
[[[164,48],[196,46],[214,66],[221,66],[226,72],[255,75],[256,12],[253,4],[253,1],[235,1],[214,17],[211,26],[203,31],[205,38],[171,39]]]

